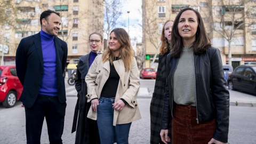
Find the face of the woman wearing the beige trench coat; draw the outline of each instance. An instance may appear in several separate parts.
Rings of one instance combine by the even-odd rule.
[[[117,41],[117,37],[114,31],[109,36],[108,45],[111,51],[118,55],[120,54],[121,44]],[[116,55],[116,57],[118,57],[118,55]]]

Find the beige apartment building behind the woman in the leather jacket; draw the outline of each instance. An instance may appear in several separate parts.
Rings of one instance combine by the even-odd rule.
[[[256,64],[256,0],[142,0],[143,67],[155,68],[153,57],[159,53],[156,50],[164,22],[174,20],[185,7],[193,7],[201,14],[212,46],[221,51],[223,65],[229,60],[228,38],[234,68]]]

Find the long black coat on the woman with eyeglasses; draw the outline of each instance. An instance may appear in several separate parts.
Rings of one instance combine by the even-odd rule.
[[[76,131],[75,143],[99,143],[99,131],[97,121],[87,118],[91,103],[87,103],[87,85],[85,76],[89,70],[90,53],[79,57],[79,62],[76,71],[75,87],[77,91],[77,103],[74,114],[72,133]],[[77,121],[78,117],[78,121]],[[77,126],[77,128],[76,128]]]

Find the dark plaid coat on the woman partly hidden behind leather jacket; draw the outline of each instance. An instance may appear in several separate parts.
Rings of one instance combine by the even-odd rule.
[[[150,143],[163,143],[160,137],[161,118],[163,110],[164,87],[166,83],[167,53],[158,56],[158,68],[153,97],[150,103]],[[171,127],[168,136],[171,138]],[[171,142],[170,142],[171,143]]]

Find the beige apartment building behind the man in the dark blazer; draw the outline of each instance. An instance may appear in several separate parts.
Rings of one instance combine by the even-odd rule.
[[[68,44],[67,63],[77,63],[78,57],[90,52],[89,35],[103,35],[103,0],[13,0],[10,15],[13,26],[0,26],[4,33],[4,63],[15,65],[15,52],[23,37],[37,34],[41,30],[40,14],[54,10],[61,15],[58,37]],[[2,44],[3,37],[0,37]],[[0,52],[0,54],[2,54]]]

